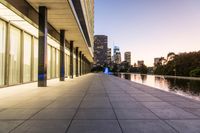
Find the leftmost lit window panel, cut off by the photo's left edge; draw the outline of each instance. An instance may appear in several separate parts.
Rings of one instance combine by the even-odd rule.
[[[0,20],[0,86],[4,85],[5,77],[5,50],[6,50],[6,23]]]

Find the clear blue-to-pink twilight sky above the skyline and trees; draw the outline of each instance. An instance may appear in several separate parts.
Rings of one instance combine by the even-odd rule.
[[[200,50],[200,0],[95,0],[95,34],[131,51],[132,64]]]

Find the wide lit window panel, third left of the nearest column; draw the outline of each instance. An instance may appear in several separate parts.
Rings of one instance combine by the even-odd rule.
[[[20,83],[20,49],[21,31],[13,26],[10,27],[10,67],[9,84]]]

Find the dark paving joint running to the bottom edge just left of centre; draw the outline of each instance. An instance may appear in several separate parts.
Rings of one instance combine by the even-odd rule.
[[[93,82],[92,82],[92,83],[93,83]],[[80,106],[81,106],[81,104],[82,104],[84,98],[85,98],[86,95],[87,95],[87,92],[88,92],[90,86],[91,86],[91,83],[88,82],[88,86],[87,86],[87,89],[86,89],[86,91],[85,91],[85,94],[84,94],[83,98],[81,99],[81,102],[79,103],[78,108],[76,109],[76,111],[75,111],[75,113],[74,113],[72,119],[70,120],[69,125],[68,125],[68,127],[66,128],[66,130],[65,130],[65,133],[67,133],[67,132],[69,131],[69,128],[71,127],[72,122],[75,120],[75,117],[76,117],[76,115],[77,115],[77,113],[78,113],[78,111],[79,111],[79,109],[80,109]]]

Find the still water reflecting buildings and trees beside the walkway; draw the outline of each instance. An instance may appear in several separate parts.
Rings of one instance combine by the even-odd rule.
[[[200,79],[125,73],[115,76],[200,101]]]

